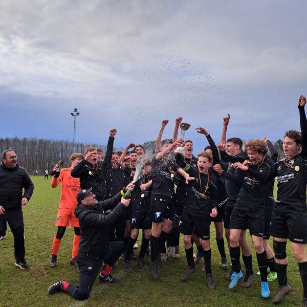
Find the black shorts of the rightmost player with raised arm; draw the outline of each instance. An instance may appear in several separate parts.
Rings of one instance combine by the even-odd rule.
[[[307,209],[276,203],[271,222],[271,235],[289,238],[294,243],[307,243]]]

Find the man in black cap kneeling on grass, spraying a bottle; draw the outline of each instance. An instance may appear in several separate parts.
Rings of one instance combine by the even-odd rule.
[[[92,188],[81,190],[77,195],[78,205],[75,215],[78,217],[81,239],[77,255],[79,267],[79,286],[71,284],[65,280],[58,281],[48,289],[48,294],[56,292],[68,292],[75,299],[84,300],[90,296],[95,278],[99,274],[100,281],[111,283],[119,282],[110,274],[112,266],[122,254],[125,244],[122,241],[108,242],[108,226],[116,222],[125,207],[128,207],[130,200],[125,200],[122,196],[125,190],[134,189],[131,183],[113,198],[98,202]],[[118,203],[120,201],[120,203]],[[117,204],[117,205],[116,205]],[[109,214],[104,212],[113,208]]]

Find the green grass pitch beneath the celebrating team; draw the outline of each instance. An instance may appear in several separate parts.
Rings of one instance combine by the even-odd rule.
[[[202,263],[186,282],[180,276],[186,268],[186,258],[181,239],[181,257],[168,258],[167,268],[159,271],[159,280],[153,281],[149,271],[139,269],[133,262],[133,273],[122,271],[122,261],[115,265],[113,275],[121,279],[118,284],[101,284],[96,280],[91,296],[80,302],[70,295],[59,293],[48,296],[50,284],[65,279],[78,283],[75,267],[69,265],[74,231],[68,228],[59,249],[58,267],[49,266],[52,239],[56,232],[55,218],[57,215],[60,188],[52,189],[50,179],[32,177],[34,194],[29,204],[24,207],[26,257],[33,268],[24,271],[14,267],[13,237],[10,231],[0,242],[0,307],[17,306],[271,306],[271,300],[278,287],[277,280],[270,282],[271,298],[260,297],[260,278],[256,277],[250,289],[239,285],[228,290],[228,281],[220,265],[214,226],[211,226],[212,273],[216,289],[209,290]],[[272,243],[272,242],[271,242]],[[140,240],[138,240],[140,247]],[[290,246],[290,245],[289,245]],[[139,249],[136,254],[138,254]],[[300,306],[302,285],[293,252],[288,248],[289,266],[288,279],[292,292],[278,306]],[[228,256],[229,260],[229,256]],[[148,259],[145,260],[148,262]],[[257,271],[256,255],[253,253],[254,271]],[[240,283],[240,282],[239,282]]]

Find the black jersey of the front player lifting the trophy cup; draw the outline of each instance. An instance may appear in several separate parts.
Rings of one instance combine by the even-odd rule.
[[[178,165],[172,159],[156,157],[151,161],[152,192],[162,196],[173,196],[174,194],[174,174],[172,171],[179,169]]]

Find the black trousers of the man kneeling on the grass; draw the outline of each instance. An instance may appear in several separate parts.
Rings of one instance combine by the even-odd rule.
[[[122,241],[109,242],[103,257],[91,261],[78,261],[79,286],[70,284],[67,292],[75,299],[84,300],[90,296],[96,276],[103,264],[113,267],[125,248]]]

